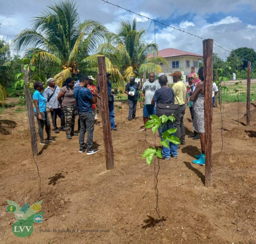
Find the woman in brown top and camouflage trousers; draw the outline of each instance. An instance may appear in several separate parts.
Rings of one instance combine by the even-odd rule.
[[[61,108],[64,111],[65,114],[65,121],[66,121],[66,133],[67,133],[67,139],[72,139],[72,135],[78,135],[74,132],[74,126],[75,126],[75,104],[76,100],[74,98],[74,79],[72,77],[69,77],[65,80],[63,83],[63,87],[60,89],[59,95],[58,95],[58,101],[61,106]],[[63,99],[62,99],[63,98]]]

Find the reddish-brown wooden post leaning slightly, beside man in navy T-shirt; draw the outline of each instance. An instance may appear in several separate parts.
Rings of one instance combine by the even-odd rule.
[[[107,75],[105,57],[98,57],[99,68],[99,86],[101,96],[102,109],[102,127],[103,127],[103,141],[105,148],[105,158],[107,170],[112,170],[115,167],[114,152],[112,145],[111,126],[109,119],[108,93],[107,93]]]

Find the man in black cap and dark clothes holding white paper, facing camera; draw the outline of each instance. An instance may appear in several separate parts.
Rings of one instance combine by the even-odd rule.
[[[125,93],[128,95],[128,105],[129,105],[129,114],[128,120],[136,119],[136,108],[138,101],[138,83],[135,82],[135,77],[132,76],[130,78],[130,82],[128,82],[125,86]]]

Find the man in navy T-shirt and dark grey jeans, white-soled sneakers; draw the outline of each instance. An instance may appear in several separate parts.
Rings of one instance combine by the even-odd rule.
[[[79,134],[79,153],[83,153],[86,148],[84,144],[84,135],[87,131],[87,154],[94,154],[99,149],[92,148],[92,139],[94,132],[94,115],[92,112],[92,104],[95,104],[95,98],[92,92],[87,88],[88,77],[81,75],[79,78],[79,86],[74,89],[74,97],[77,102],[79,119],[80,119],[80,134]]]

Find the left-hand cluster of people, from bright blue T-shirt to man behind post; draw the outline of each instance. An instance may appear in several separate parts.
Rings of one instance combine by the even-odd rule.
[[[114,96],[111,93],[111,83],[107,73],[107,89],[109,94],[109,116],[111,129],[118,131],[115,125],[114,116]],[[36,81],[34,82],[33,94],[34,100],[34,114],[38,123],[38,134],[41,145],[48,145],[50,142],[55,142],[51,136],[51,124],[49,120],[46,107],[50,110],[52,125],[54,132],[59,133],[56,119],[59,116],[61,120],[61,131],[66,131],[67,139],[72,139],[72,136],[77,136],[74,132],[75,117],[79,115],[79,153],[87,151],[87,154],[97,153],[99,149],[92,147],[94,125],[99,125],[97,121],[97,98],[100,97],[100,86],[93,84],[94,78],[92,76],[80,75],[76,82],[72,77],[67,78],[63,82],[62,88],[56,86],[53,78],[49,78],[46,83],[48,87],[44,89],[44,84]],[[44,127],[47,138],[44,139]],[[85,147],[84,136],[87,131],[87,147]]]

